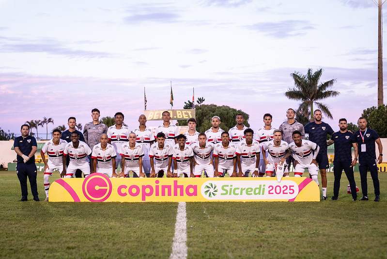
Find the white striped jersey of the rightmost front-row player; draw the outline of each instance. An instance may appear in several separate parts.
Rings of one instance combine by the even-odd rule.
[[[302,165],[310,165],[313,157],[315,158],[317,156],[320,147],[309,140],[302,139],[301,142],[300,147],[296,146],[294,142],[289,145],[292,149],[292,156],[298,163]]]

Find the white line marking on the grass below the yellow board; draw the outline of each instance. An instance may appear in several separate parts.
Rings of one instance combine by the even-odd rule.
[[[186,259],[187,258],[187,214],[186,203],[179,202],[177,207],[175,235],[172,243],[172,253],[170,259]]]

